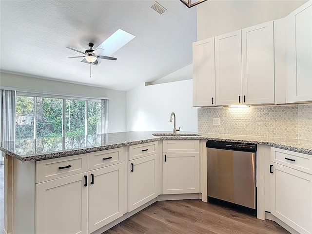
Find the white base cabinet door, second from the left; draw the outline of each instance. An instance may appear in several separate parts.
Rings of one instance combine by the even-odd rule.
[[[126,213],[123,165],[89,171],[89,234]]]

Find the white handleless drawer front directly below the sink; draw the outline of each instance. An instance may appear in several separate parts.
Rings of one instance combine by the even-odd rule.
[[[198,140],[164,140],[162,152],[199,152]]]

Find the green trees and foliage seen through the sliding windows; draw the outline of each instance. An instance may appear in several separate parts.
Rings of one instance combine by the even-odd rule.
[[[66,100],[65,135],[85,134],[86,101]],[[61,137],[63,122],[63,99],[40,98],[36,102],[36,137]],[[16,117],[33,119],[35,116],[35,98],[16,97]],[[33,121],[32,121],[33,123]],[[97,125],[101,123],[101,103],[87,101],[87,134],[97,134]],[[34,125],[16,123],[16,138],[33,138]]]

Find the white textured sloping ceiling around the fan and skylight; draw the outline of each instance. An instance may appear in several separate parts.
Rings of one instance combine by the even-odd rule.
[[[192,63],[196,7],[179,0],[0,0],[0,69],[117,90],[154,81]],[[136,36],[98,66],[68,57],[122,29]]]

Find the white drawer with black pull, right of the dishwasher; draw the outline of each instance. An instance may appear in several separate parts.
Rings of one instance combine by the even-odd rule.
[[[312,174],[312,156],[271,147],[271,161]]]

